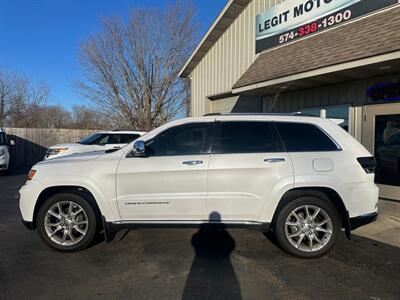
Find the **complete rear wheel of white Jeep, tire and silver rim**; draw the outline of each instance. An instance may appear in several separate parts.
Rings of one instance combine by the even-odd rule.
[[[327,200],[300,197],[286,204],[274,224],[281,247],[289,254],[315,258],[328,253],[340,231],[336,208]]]

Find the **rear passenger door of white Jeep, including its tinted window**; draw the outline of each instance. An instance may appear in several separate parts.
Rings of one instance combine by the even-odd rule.
[[[208,171],[207,213],[219,215],[222,221],[258,221],[274,186],[293,183],[290,157],[272,122],[217,123]]]

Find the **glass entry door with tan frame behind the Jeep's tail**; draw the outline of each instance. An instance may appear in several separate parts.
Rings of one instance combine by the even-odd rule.
[[[362,142],[377,161],[380,197],[400,201],[400,103],[364,107]]]

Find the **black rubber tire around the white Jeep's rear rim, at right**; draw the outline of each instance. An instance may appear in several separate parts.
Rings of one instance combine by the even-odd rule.
[[[289,217],[289,214],[291,214],[294,210],[300,207],[304,207],[306,205],[322,209],[321,212],[324,211],[329,216],[332,225],[331,236],[329,240],[326,242],[324,246],[321,246],[322,247],[321,249],[315,249],[313,251],[296,248],[286,236],[286,220]],[[333,204],[329,200],[319,198],[316,196],[303,196],[290,201],[279,211],[278,217],[276,218],[276,221],[273,224],[273,231],[277,242],[282,247],[282,249],[287,253],[301,258],[317,258],[326,255],[329,251],[333,249],[340,232],[341,228],[340,224],[341,221],[337,209],[333,206]],[[325,234],[319,231],[314,231],[314,232],[316,235]],[[305,238],[306,241],[304,242],[307,242],[308,245],[310,245],[311,243],[309,242],[307,235],[305,235]],[[294,239],[297,239],[298,241],[299,237],[295,237]],[[325,239],[321,238],[320,240],[323,240],[323,242],[325,242],[327,238],[326,237]],[[315,247],[320,246],[320,244],[317,243],[316,240],[313,240],[313,243],[316,243]],[[305,245],[302,244],[301,247],[305,247]],[[311,248],[312,247],[313,245],[311,245]]]

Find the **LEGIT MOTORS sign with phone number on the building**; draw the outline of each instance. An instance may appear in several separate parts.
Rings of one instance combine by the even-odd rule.
[[[286,0],[256,18],[256,53],[342,24],[399,0]]]

